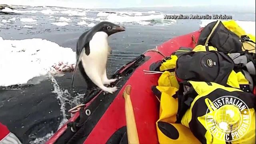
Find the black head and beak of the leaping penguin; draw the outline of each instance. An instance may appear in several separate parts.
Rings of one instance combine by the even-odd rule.
[[[98,32],[106,32],[108,34],[108,36],[110,36],[116,32],[125,31],[125,28],[123,26],[118,26],[111,22],[100,22],[98,24],[98,26],[100,27]]]

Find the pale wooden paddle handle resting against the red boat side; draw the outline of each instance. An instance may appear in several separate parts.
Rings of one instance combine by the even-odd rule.
[[[125,115],[126,115],[126,127],[127,136],[129,144],[139,144],[138,132],[134,117],[134,112],[132,108],[132,101],[130,99],[132,86],[127,85],[123,92],[123,97],[125,100]]]

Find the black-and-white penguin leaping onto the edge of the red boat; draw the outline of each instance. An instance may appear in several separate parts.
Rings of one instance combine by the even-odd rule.
[[[125,31],[123,26],[118,26],[111,22],[100,22],[90,30],[84,32],[76,44],[76,66],[72,76],[78,66],[80,73],[87,82],[87,92],[100,88],[105,92],[113,94],[117,87],[106,87],[117,79],[108,79],[106,74],[106,63],[111,48],[108,45],[108,36],[117,32]]]

